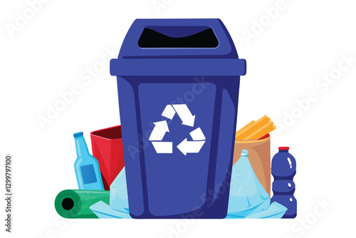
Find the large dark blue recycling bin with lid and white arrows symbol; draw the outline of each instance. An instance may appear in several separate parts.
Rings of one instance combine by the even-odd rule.
[[[117,76],[133,218],[224,218],[246,61],[219,19],[137,19]]]

